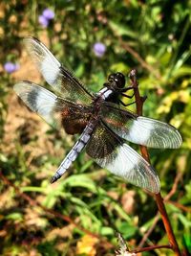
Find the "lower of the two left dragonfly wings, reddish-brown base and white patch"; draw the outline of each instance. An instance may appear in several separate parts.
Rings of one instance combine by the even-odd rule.
[[[36,112],[54,128],[65,125],[64,128],[66,129],[68,124],[71,125],[69,128],[73,129],[73,126],[78,127],[82,124],[81,122],[87,122],[89,119],[89,112],[85,106],[74,105],[72,102],[61,99],[51,91],[31,81],[16,83],[14,91],[32,111]],[[84,113],[86,113],[86,116]],[[83,127],[85,127],[85,124]]]

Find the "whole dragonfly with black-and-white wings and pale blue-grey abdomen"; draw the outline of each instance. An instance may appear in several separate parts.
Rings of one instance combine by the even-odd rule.
[[[85,149],[101,168],[158,194],[159,175],[127,142],[158,149],[177,149],[182,143],[180,132],[166,123],[127,110],[121,99],[122,96],[133,97],[127,94],[132,87],[125,87],[122,73],[109,75],[102,89],[93,93],[37,38],[25,37],[24,45],[54,93],[32,81],[17,82],[14,91],[53,128],[80,134],[51,183],[64,175]]]

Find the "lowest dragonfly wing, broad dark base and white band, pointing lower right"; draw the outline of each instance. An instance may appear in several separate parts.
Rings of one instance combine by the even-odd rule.
[[[104,125],[97,125],[86,151],[102,168],[140,188],[159,193],[159,177],[152,166]]]

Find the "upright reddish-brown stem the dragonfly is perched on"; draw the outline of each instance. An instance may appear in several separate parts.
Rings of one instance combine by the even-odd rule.
[[[138,115],[142,115],[142,107],[143,107],[143,103],[145,101],[145,98],[141,97],[140,94],[139,94],[137,72],[136,72],[135,69],[133,69],[130,72],[129,77],[130,77],[132,86],[135,87],[134,91],[135,91],[135,98],[136,98],[136,105],[137,105],[137,113],[138,113]],[[149,153],[148,153],[147,148],[144,147],[144,146],[140,146],[140,151],[141,151],[142,157],[150,163],[150,157],[149,157]],[[163,221],[163,224],[164,224],[164,227],[165,227],[165,230],[166,230],[166,234],[168,236],[170,247],[174,250],[176,256],[180,256],[181,255],[180,254],[180,248],[179,248],[179,245],[176,241],[171,223],[169,221],[169,218],[168,218],[168,215],[167,215],[167,212],[166,212],[166,209],[165,209],[165,205],[163,203],[163,198],[161,197],[160,193],[155,194],[154,196],[156,198],[159,213],[161,215],[161,219]]]

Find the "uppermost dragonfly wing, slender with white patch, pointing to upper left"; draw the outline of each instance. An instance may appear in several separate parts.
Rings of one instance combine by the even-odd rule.
[[[35,37],[26,37],[24,44],[44,79],[59,92],[62,98],[77,104],[89,105],[94,97],[73,73],[53,57],[47,47]]]

